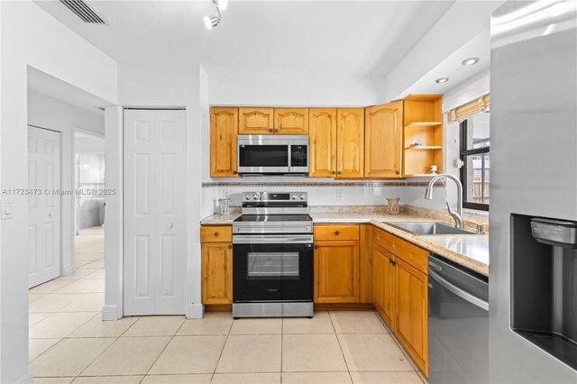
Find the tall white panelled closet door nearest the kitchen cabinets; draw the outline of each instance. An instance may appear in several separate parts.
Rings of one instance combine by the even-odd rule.
[[[124,111],[124,315],[185,313],[184,162],[184,111]]]

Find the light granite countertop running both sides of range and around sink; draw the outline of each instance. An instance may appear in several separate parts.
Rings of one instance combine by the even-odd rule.
[[[230,215],[211,215],[202,225],[231,225],[240,212]],[[489,234],[453,234],[417,236],[388,225],[394,222],[438,221],[422,215],[389,215],[384,212],[310,212],[314,224],[372,224],[401,239],[431,251],[445,259],[463,265],[481,275],[489,276]]]

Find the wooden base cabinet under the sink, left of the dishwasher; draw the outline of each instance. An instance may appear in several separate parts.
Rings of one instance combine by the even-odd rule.
[[[373,305],[428,376],[428,252],[373,228]]]

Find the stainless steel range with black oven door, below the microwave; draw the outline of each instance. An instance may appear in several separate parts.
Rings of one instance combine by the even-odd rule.
[[[313,315],[306,192],[243,193],[233,223],[233,317]]]

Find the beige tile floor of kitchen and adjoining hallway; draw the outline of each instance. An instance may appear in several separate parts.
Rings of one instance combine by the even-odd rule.
[[[73,274],[30,290],[35,383],[424,382],[372,311],[103,322],[103,230],[82,230],[76,251]]]

